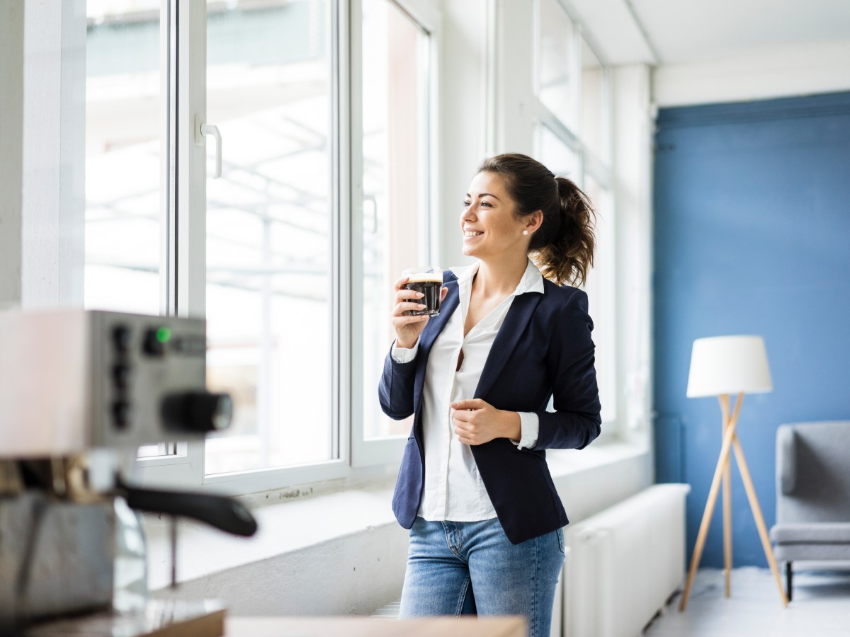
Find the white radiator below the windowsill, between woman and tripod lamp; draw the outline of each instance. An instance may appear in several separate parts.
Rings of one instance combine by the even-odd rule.
[[[636,637],[685,572],[686,484],[658,484],[564,529],[564,637]]]

